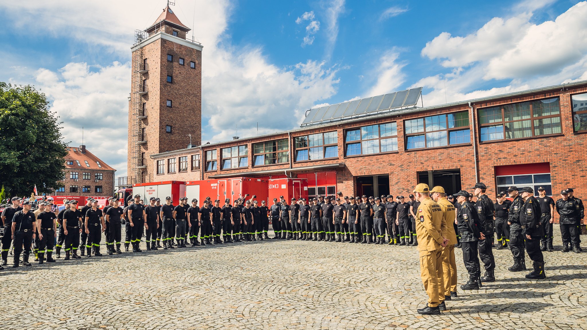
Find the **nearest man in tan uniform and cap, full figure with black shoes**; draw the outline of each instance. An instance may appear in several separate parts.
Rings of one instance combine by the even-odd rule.
[[[444,304],[444,282],[442,248],[448,243],[443,237],[443,211],[440,205],[430,199],[430,188],[420,183],[414,188],[416,200],[420,202],[416,215],[416,234],[420,251],[420,277],[428,294],[428,304],[417,310],[423,315],[440,315],[446,310]],[[446,231],[446,223],[444,224]]]

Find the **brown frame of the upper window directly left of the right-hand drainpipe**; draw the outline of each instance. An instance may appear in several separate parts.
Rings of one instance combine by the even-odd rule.
[[[449,127],[448,123],[450,123],[450,120],[448,119],[448,116],[449,115],[457,115],[457,113],[466,113],[467,114],[467,125],[466,126],[458,126],[458,127]],[[426,118],[430,118],[431,120],[433,120],[434,117],[438,117],[438,116],[444,116],[444,120],[445,120],[444,124],[446,125],[446,127],[444,129],[438,129],[438,130],[430,130],[430,131],[426,130]],[[419,120],[419,119],[422,120],[423,130],[421,132],[407,133],[407,130],[406,130],[407,124],[406,123],[410,122],[411,120]],[[456,122],[456,120],[454,120],[454,121]],[[433,122],[433,124],[434,124],[434,122]],[[404,127],[403,127],[403,130],[404,130],[404,150],[406,150],[406,151],[434,149],[434,148],[446,148],[446,147],[454,147],[454,146],[467,146],[467,145],[471,144],[471,116],[470,116],[470,113],[468,110],[440,113],[437,115],[406,119],[406,120],[404,120],[403,125],[404,125]],[[450,143],[450,133],[464,131],[464,130],[469,131],[469,142],[451,144]],[[429,139],[427,138],[427,135],[430,133],[442,133],[442,132],[446,132],[446,145],[429,147],[428,146]],[[416,137],[416,136],[423,137],[424,146],[420,147],[420,148],[408,148],[408,138],[409,137]]]

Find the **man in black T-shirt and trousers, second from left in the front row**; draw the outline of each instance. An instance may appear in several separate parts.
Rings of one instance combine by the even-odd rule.
[[[22,210],[16,212],[12,217],[11,238],[14,240],[14,265],[13,268],[18,267],[21,252],[22,265],[30,266],[29,254],[31,253],[32,240],[36,238],[36,218],[35,214],[31,212],[31,201],[24,201],[22,203]]]

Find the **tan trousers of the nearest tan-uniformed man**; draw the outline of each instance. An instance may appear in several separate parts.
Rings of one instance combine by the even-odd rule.
[[[420,251],[420,277],[428,295],[428,306],[438,307],[444,301],[442,249]],[[442,295],[442,300],[440,296]]]

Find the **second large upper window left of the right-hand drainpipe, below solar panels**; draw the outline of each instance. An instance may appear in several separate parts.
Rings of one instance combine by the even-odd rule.
[[[397,151],[397,124],[385,123],[347,130],[345,156]]]

